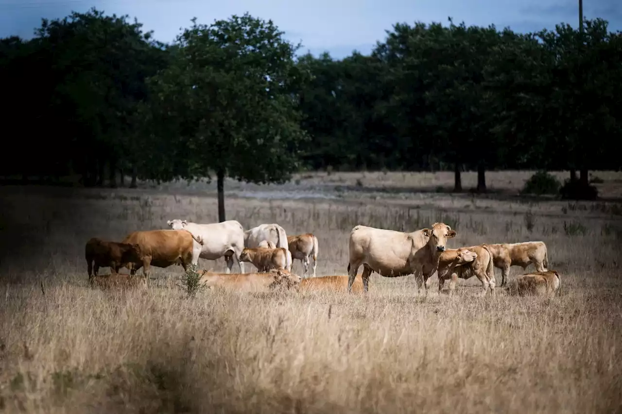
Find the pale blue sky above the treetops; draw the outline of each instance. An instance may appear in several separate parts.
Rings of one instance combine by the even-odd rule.
[[[370,53],[396,23],[494,24],[517,32],[554,29],[555,24],[578,25],[578,0],[0,0],[0,37],[19,35],[29,39],[41,18],[62,18],[72,11],[95,6],[106,14],[138,18],[154,37],[172,42],[182,27],[210,24],[233,14],[249,12],[272,19],[285,37],[302,42],[300,53],[324,51],[343,58],[353,50]],[[622,30],[621,0],[584,0],[583,16],[602,17],[610,30]]]

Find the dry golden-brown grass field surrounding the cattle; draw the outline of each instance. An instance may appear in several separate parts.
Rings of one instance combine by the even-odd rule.
[[[501,188],[495,174],[489,182]],[[376,175],[362,186],[387,176]],[[619,190],[620,173],[597,175]],[[84,259],[90,237],[120,240],[172,218],[217,221],[211,186],[203,187],[207,196],[198,184],[4,186],[0,412],[622,412],[619,202],[334,188],[322,197],[295,194],[335,177],[358,179],[313,175],[267,186],[290,191],[289,200],[228,181],[227,218],[244,228],[279,223],[288,234],[315,233],[318,275],[346,274],[357,224],[412,231],[443,221],[458,232],[448,247],[542,240],[549,269],[562,275],[559,295],[506,297],[498,288],[496,298],[478,297],[471,278],[450,296],[437,293],[433,277],[426,297],[412,277],[374,274],[367,296],[205,290],[187,298],[177,266],[153,269],[146,291],[92,289]],[[200,260],[200,267],[223,270],[225,262]],[[301,272],[299,261],[293,270]],[[510,279],[521,272],[513,267]]]

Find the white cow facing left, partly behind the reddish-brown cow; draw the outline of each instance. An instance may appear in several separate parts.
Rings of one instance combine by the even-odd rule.
[[[239,271],[244,273],[244,264],[239,260],[239,255],[244,249],[244,229],[236,220],[223,221],[221,223],[198,224],[181,219],[172,219],[166,222],[171,229],[187,230],[195,236],[201,236],[203,248],[199,255],[202,259],[216,260],[225,256],[227,273],[231,273],[233,262],[239,266]]]

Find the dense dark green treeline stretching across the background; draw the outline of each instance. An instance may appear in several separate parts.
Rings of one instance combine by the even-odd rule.
[[[622,35],[396,24],[371,55],[295,57],[271,21],[197,24],[173,44],[96,9],[0,42],[1,175],[281,182],[300,168],[617,169]],[[108,176],[108,177],[106,177]],[[224,216],[224,213],[223,213]]]

